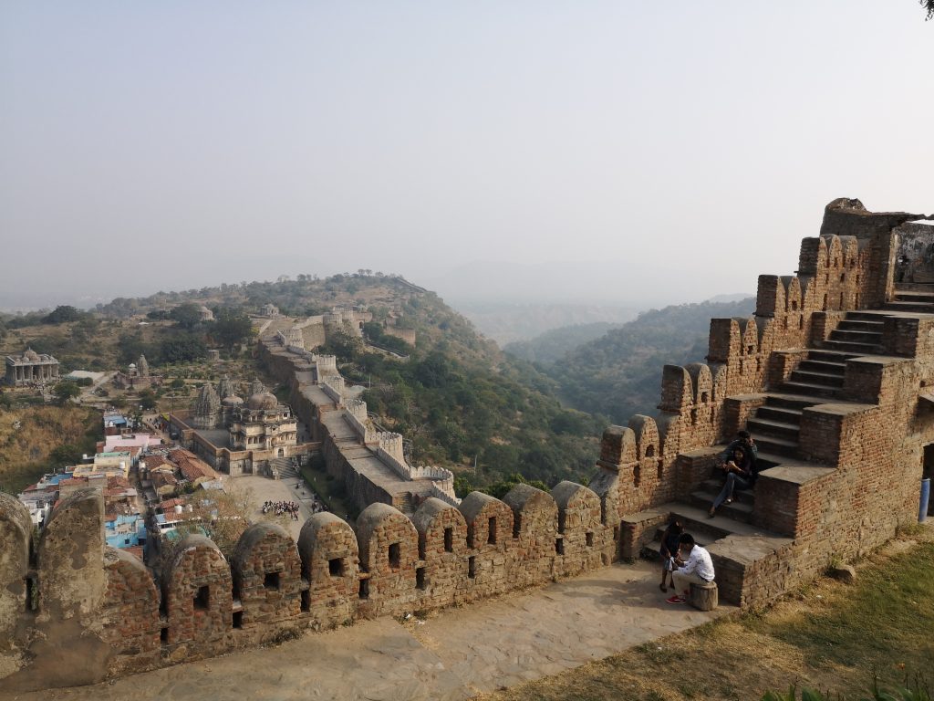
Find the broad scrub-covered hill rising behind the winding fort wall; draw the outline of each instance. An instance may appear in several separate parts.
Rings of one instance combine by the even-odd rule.
[[[158,372],[172,360],[198,363],[207,348],[219,347],[218,321],[200,321],[202,306],[212,309],[216,320],[239,320],[269,303],[292,318],[365,305],[375,323],[366,324],[364,333],[382,336],[380,322],[390,314],[415,331],[414,347],[392,336],[372,338],[395,344],[408,360],[376,352],[349,334],[333,333],[321,350],[337,356],[351,383],[368,388],[363,393],[368,408],[381,426],[403,435],[413,464],[451,468],[461,494],[515,473],[548,486],[590,476],[604,425],[562,408],[552,379],[503,353],[437,294],[398,276],[361,270],[124,297],[82,313],[78,322],[46,323],[43,314],[0,315],[0,346],[21,351],[32,344],[62,356],[67,367],[92,369],[125,365],[145,352]],[[179,313],[185,308],[193,308],[191,319]],[[225,345],[225,357],[236,348]]]

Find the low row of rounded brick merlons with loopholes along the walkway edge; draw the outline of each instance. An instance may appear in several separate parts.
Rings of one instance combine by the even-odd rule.
[[[474,493],[460,507],[426,499],[410,520],[387,504],[356,529],[332,513],[304,523],[298,542],[274,523],[244,531],[228,560],[186,536],[155,583],[134,555],[106,545],[103,501],[65,499],[38,543],[28,513],[0,494],[0,643],[5,688],[90,683],[361,618],[440,608],[606,565],[616,514],[562,482],[551,494],[519,485],[503,501]],[[30,569],[34,551],[42,564]],[[24,586],[24,582],[29,582]],[[30,591],[37,586],[39,595]],[[86,665],[64,671],[36,655],[43,639],[80,645]],[[51,670],[58,670],[52,673]]]

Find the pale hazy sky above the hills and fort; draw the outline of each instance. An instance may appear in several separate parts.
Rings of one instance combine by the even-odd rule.
[[[2,2],[0,308],[751,292],[835,197],[934,211],[932,76],[915,0]]]

